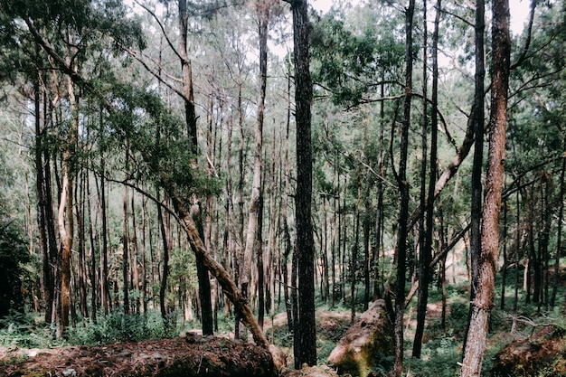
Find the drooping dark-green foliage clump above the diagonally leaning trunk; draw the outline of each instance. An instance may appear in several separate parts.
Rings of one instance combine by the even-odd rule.
[[[163,99],[153,91],[119,81],[101,85],[115,108],[100,141],[108,151],[118,153],[113,160],[117,168],[125,165],[124,151],[129,148],[128,175],[136,182],[175,187],[185,198],[195,193],[220,193],[220,179],[193,168],[196,156],[190,152],[192,141],[186,136],[186,125]]]

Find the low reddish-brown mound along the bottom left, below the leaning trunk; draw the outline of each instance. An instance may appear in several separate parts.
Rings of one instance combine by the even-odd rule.
[[[55,375],[267,377],[277,373],[271,354],[263,348],[228,339],[195,335],[50,350],[0,369],[0,377]]]

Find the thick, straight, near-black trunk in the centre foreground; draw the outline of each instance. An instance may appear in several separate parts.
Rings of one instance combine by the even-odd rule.
[[[298,315],[300,329],[298,347],[295,348],[295,367],[304,363],[316,365],[315,322],[315,245],[312,225],[312,146],[311,146],[311,102],[313,88],[310,77],[308,52],[308,3],[295,0],[293,12],[293,35],[295,52],[295,108],[297,122],[297,193],[295,211],[297,221],[298,251]],[[298,362],[298,363],[297,363]]]

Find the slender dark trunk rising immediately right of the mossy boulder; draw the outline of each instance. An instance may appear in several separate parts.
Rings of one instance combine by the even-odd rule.
[[[395,287],[395,319],[393,324],[393,341],[395,362],[392,376],[401,377],[403,372],[403,316],[405,314],[405,278],[407,273],[407,235],[409,220],[409,183],[407,182],[407,156],[409,152],[410,102],[412,97],[412,19],[415,1],[409,0],[405,9],[405,103],[401,125],[401,151],[397,183],[401,195],[399,207],[399,228],[395,255],[397,261],[397,282]]]

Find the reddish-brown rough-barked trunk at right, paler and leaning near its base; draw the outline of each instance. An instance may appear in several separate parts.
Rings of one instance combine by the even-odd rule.
[[[489,315],[494,304],[495,269],[499,256],[499,214],[505,173],[505,130],[509,88],[509,2],[495,0],[492,17],[492,96],[486,199],[482,216],[482,251],[476,297],[467,333],[462,377],[479,376],[486,349]]]

